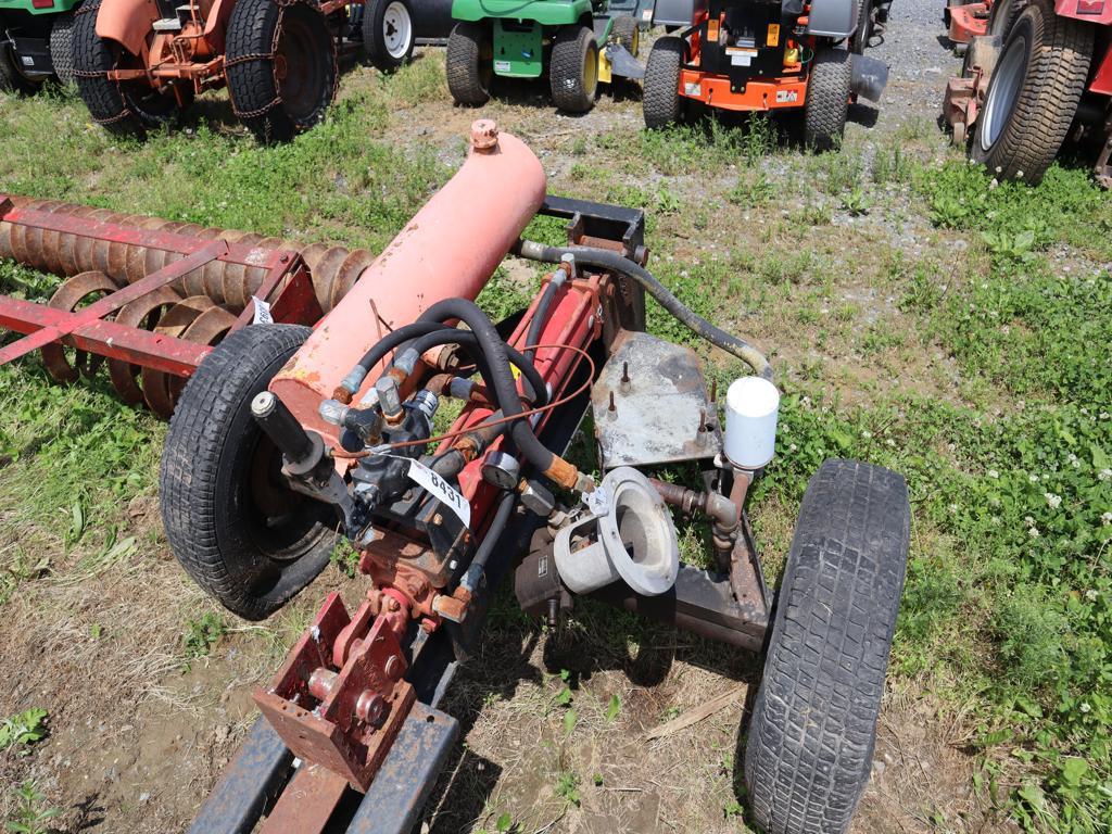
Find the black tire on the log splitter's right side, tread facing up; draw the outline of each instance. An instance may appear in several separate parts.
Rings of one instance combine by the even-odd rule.
[[[843,834],[868,781],[903,593],[907,486],[827,460],[807,485],[745,745],[766,834]]]

